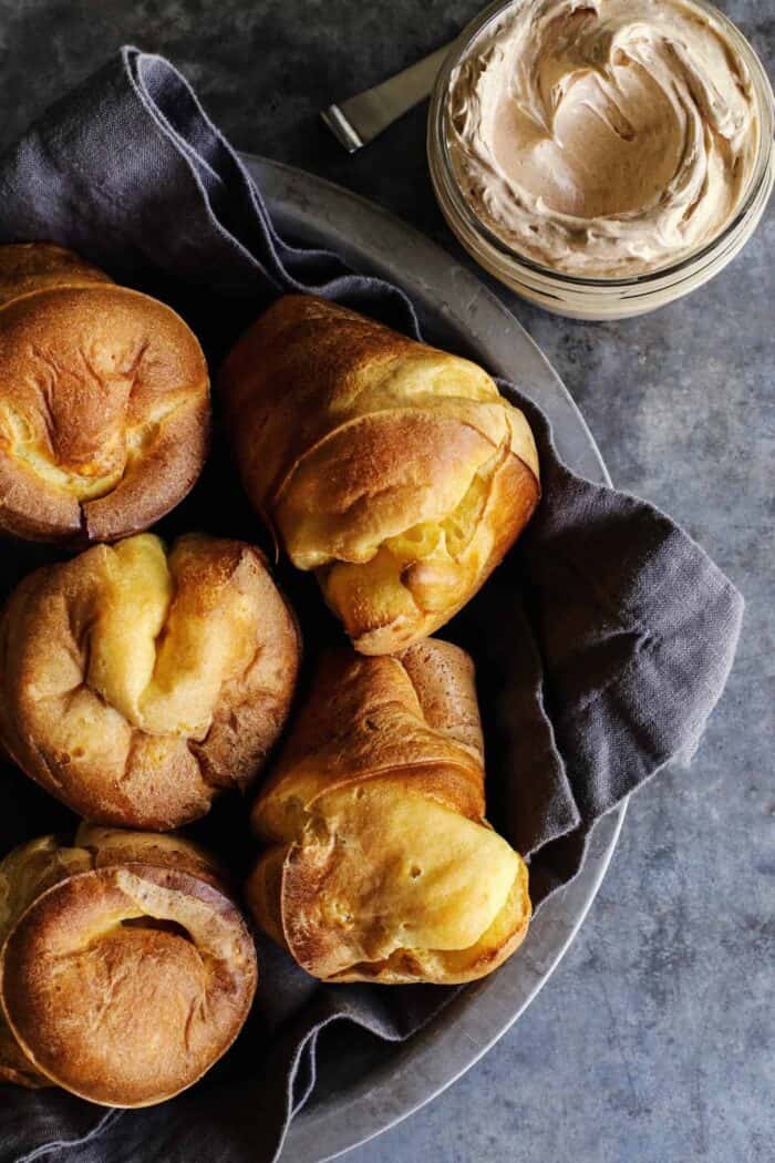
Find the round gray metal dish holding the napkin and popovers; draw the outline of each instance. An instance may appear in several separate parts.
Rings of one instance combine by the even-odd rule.
[[[244,159],[286,237],[330,247],[357,270],[400,284],[435,342],[462,348],[490,372],[516,383],[552,421],[566,463],[590,480],[610,483],[559,376],[474,274],[379,206],[300,170]],[[517,955],[461,991],[408,1042],[388,1044],[345,1023],[323,1036],[320,1080],[290,1127],[282,1161],[321,1163],[378,1135],[450,1086],[505,1034],[546,984],[587,915],[624,813],[622,806],[600,821],[580,876],[540,909]]]

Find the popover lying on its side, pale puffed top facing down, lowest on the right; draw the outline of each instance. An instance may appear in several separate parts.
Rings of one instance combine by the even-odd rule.
[[[326,982],[457,983],[523,940],[528,870],[485,820],[473,664],[435,638],[324,658],[252,812],[258,923]]]

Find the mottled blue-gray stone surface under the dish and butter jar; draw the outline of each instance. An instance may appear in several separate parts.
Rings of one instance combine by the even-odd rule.
[[[121,43],[168,55],[242,149],[375,199],[450,250],[424,109],[349,158],[321,106],[455,34],[480,0],[0,0],[9,141]],[[773,71],[773,0],[722,5]],[[710,286],[577,323],[501,290],[615,481],[667,509],[744,591],[730,687],[689,771],[632,802],[593,914],[510,1035],[352,1163],[765,1163],[774,1157],[775,214]]]

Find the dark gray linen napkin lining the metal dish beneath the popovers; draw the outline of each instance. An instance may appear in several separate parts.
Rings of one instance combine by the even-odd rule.
[[[43,238],[173,302],[211,361],[282,291],[311,291],[409,334],[426,331],[399,288],[280,238],[182,77],[136,49],[113,57],[0,158],[0,242]],[[502,386],[533,426],[544,498],[517,548],[445,634],[476,657],[490,815],[531,855],[540,904],[577,872],[595,820],[696,747],[732,665],[742,599],[663,514],[574,476],[540,412]],[[195,526],[258,535],[222,437],[202,483],[162,531]],[[51,552],[15,548],[5,587]],[[309,640],[321,618],[314,587],[289,573],[282,580],[302,621],[315,604]],[[202,825],[203,839],[239,868],[251,855],[244,816],[231,801]],[[13,768],[0,773],[2,851],[72,822]],[[322,986],[258,942],[254,1013],[203,1083],[129,1113],[55,1090],[0,1087],[0,1158],[265,1163],[315,1084],[322,1030],[338,1023],[342,1053],[351,1023],[400,1040],[451,996],[432,986]]]

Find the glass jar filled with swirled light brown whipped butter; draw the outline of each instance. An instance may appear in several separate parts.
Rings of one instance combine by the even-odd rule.
[[[702,286],[773,188],[773,91],[704,0],[511,0],[436,80],[429,162],[444,215],[514,291],[622,319]]]

